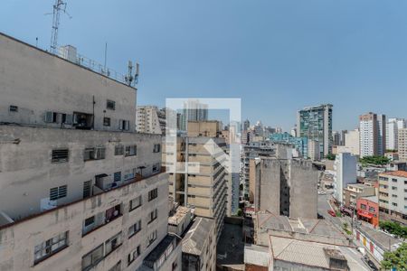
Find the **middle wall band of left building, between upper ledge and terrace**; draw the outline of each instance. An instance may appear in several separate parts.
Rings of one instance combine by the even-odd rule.
[[[15,139],[19,140],[14,144]],[[146,166],[143,175],[152,173],[153,164],[161,164],[161,153],[153,153],[160,135],[85,131],[42,127],[0,126],[0,210],[13,219],[40,210],[40,201],[50,197],[53,187],[68,185],[65,204],[82,198],[83,182],[95,182],[95,175],[137,172]],[[137,155],[115,155],[116,145],[137,145]],[[104,145],[106,158],[83,161],[86,147]],[[52,149],[68,148],[69,162],[52,164]]]

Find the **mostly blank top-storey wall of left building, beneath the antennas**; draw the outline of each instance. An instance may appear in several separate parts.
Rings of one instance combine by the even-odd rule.
[[[135,130],[136,89],[1,33],[0,93],[0,122],[61,126],[45,123],[45,111],[93,114],[94,98],[95,129],[117,131],[124,119]],[[106,107],[108,99],[115,110]],[[18,112],[10,112],[11,105]],[[103,117],[110,117],[110,126],[103,126]]]

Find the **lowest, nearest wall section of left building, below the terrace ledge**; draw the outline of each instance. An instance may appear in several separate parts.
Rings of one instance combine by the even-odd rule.
[[[167,233],[168,175],[157,174],[90,199],[51,210],[32,219],[0,228],[0,270],[80,270],[81,257],[121,232],[123,243],[92,270],[109,270],[121,261],[123,270],[136,270],[144,257]],[[158,189],[158,197],[148,201],[148,192]],[[129,211],[129,201],[142,195],[143,205]],[[82,223],[101,211],[122,204],[123,215],[82,237]],[[149,213],[157,209],[157,219],[147,224]],[[142,220],[141,231],[128,238],[128,228]],[[156,241],[147,247],[148,235],[157,230]],[[68,247],[34,265],[34,247],[57,234],[69,231]],[[128,254],[140,245],[141,255],[128,266]]]

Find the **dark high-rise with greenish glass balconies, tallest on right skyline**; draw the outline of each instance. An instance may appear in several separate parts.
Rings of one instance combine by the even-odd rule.
[[[332,152],[332,107],[327,104],[298,111],[298,136],[317,141],[321,158]]]

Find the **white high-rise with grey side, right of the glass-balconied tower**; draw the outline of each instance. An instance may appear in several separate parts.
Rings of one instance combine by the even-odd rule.
[[[359,117],[361,157],[384,155],[386,145],[385,124],[385,115],[369,112]]]

